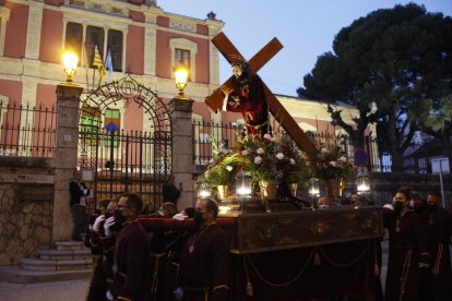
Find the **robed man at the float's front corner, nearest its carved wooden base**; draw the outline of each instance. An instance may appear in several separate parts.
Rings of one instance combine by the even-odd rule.
[[[230,245],[215,221],[217,214],[218,205],[214,200],[198,201],[194,213],[198,227],[188,237],[180,254],[178,300],[227,300]]]

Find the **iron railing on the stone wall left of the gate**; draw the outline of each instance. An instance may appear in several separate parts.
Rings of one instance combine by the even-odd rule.
[[[57,110],[0,100],[0,156],[52,157]]]

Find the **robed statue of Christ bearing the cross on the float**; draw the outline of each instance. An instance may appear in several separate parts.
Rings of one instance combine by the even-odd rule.
[[[233,62],[233,87],[225,87],[223,110],[241,112],[248,134],[263,136],[269,132],[269,108],[261,77],[250,74],[243,60]]]

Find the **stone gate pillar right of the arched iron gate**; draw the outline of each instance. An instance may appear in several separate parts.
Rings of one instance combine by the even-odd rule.
[[[182,183],[177,206],[179,209],[194,206],[193,198],[193,127],[191,124],[193,99],[176,96],[170,104],[173,120],[173,174],[175,185]]]

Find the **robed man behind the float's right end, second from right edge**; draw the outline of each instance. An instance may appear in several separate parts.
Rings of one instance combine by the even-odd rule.
[[[408,209],[411,192],[401,188],[384,216],[389,232],[386,301],[419,300],[420,268],[428,267],[425,228],[420,217]]]

